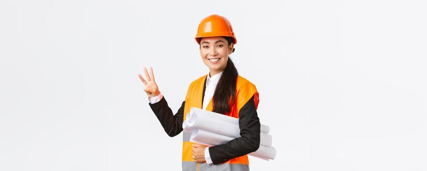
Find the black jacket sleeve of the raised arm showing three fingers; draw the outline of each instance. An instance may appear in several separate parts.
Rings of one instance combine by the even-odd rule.
[[[175,115],[173,115],[172,110],[167,105],[164,96],[159,102],[155,104],[149,103],[149,105],[151,110],[153,110],[154,114],[157,116],[157,119],[159,119],[160,124],[162,124],[167,135],[174,137],[183,131],[185,101],[183,101],[183,104]]]

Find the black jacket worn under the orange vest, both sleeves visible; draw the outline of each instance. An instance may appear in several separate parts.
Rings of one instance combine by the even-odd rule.
[[[206,79],[203,84],[203,97],[206,89]],[[183,114],[185,101],[178,112],[173,115],[172,110],[167,105],[166,99],[163,98],[155,103],[149,103],[154,114],[156,114],[164,131],[170,136],[176,136],[183,131]],[[241,137],[235,138],[226,144],[213,146],[209,148],[209,155],[213,164],[220,164],[227,160],[243,156],[254,152],[260,147],[260,120],[255,107],[254,96],[246,102],[239,111],[239,128]]]

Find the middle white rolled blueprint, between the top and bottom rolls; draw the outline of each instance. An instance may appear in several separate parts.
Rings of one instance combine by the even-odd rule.
[[[230,117],[230,116],[227,116],[227,117]],[[238,125],[230,124],[228,122],[224,122],[215,118],[207,117],[206,115],[199,114],[199,113],[193,113],[192,115],[187,114],[186,121],[183,122],[183,128],[184,130],[190,129],[190,128],[203,129],[208,132],[221,134],[231,138],[241,137],[240,128]],[[189,132],[188,130],[186,131]],[[260,145],[271,147],[273,142],[271,135],[261,132],[260,137],[261,137]]]

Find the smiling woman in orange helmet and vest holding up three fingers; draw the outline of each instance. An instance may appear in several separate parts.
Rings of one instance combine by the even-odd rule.
[[[206,147],[189,142],[190,134],[183,132],[183,171],[248,171],[248,153],[260,145],[260,121],[256,108],[258,92],[255,85],[238,75],[229,54],[237,43],[230,22],[222,16],[211,15],[199,24],[196,42],[200,44],[200,56],[209,73],[193,81],[185,101],[173,115],[154,80],[144,67],[146,81],[144,91],[149,105],[166,133],[173,137],[183,131],[185,115],[191,107],[239,118],[241,137],[226,144]]]

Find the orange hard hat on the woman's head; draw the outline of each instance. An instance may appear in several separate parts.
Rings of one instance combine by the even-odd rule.
[[[230,21],[223,16],[213,14],[207,16],[200,22],[195,39],[196,42],[200,44],[200,38],[215,36],[231,37],[234,40],[232,43],[237,43]]]

